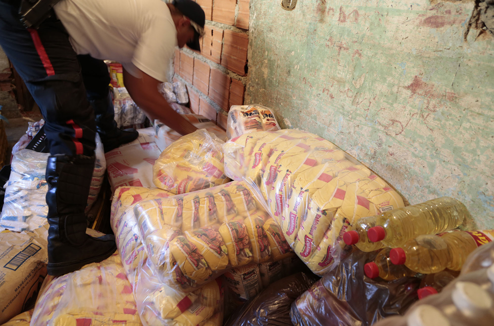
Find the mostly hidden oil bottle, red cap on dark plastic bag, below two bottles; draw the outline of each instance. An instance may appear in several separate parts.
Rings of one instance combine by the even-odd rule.
[[[365,264],[364,272],[368,278],[380,277],[385,280],[393,280],[417,274],[404,265],[394,265],[390,260],[390,251],[391,248],[381,250],[373,262]]]

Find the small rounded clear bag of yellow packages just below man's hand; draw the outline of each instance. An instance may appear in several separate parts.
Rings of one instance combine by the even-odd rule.
[[[154,185],[182,194],[226,184],[230,179],[223,172],[223,143],[205,129],[175,141],[154,163]]]

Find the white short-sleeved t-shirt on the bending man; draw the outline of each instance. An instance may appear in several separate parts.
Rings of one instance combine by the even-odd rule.
[[[120,62],[167,81],[177,45],[170,10],[161,0],[62,0],[55,13],[77,54]]]

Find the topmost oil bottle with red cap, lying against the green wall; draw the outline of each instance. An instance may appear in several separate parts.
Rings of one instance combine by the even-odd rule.
[[[370,241],[381,241],[386,247],[399,247],[421,234],[453,230],[468,216],[461,202],[441,197],[377,216],[376,226],[367,231],[367,236]]]

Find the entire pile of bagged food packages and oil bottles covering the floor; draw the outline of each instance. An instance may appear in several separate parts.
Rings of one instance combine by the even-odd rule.
[[[122,113],[121,67],[108,66],[115,119],[141,124],[144,114]],[[282,130],[267,107],[232,106],[225,131],[191,113],[180,83],[159,91],[198,131],[156,120],[107,153],[97,139],[88,207],[107,171],[117,245],[100,263],[47,275],[49,154],[14,153],[0,324],[492,325],[494,231],[459,231],[471,218],[462,203],[405,206],[369,167]]]

